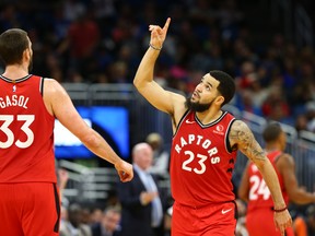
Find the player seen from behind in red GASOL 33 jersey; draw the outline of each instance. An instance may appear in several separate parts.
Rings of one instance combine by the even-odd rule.
[[[77,113],[62,86],[32,75],[32,43],[26,32],[0,35],[0,234],[57,236],[60,202],[56,187],[55,118],[88,149],[114,164],[121,181],[133,177],[132,166]]]

